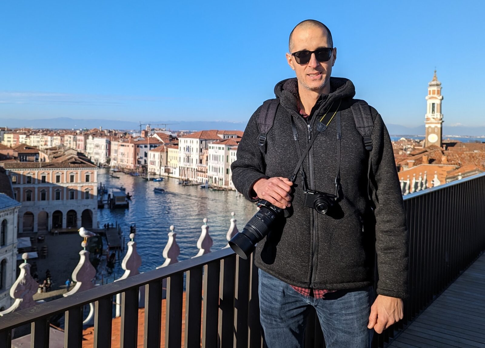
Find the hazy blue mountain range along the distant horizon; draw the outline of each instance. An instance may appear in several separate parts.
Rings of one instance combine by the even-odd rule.
[[[171,124],[167,128],[171,130],[244,130],[246,122],[227,122],[227,121],[157,121],[155,124]],[[104,129],[140,129],[139,122],[132,121],[115,121],[115,120],[100,120],[100,119],[73,119],[68,117],[46,118],[37,120],[19,120],[19,119],[0,119],[0,127],[10,128],[59,128],[59,129],[80,129],[80,128],[98,128]],[[424,125],[419,127],[405,127],[401,125],[388,124],[388,131],[390,135],[400,136],[416,136],[424,135]],[[145,126],[142,126],[144,129]],[[485,136],[485,127],[469,127],[469,126],[447,126],[445,124],[444,135],[456,136]]]

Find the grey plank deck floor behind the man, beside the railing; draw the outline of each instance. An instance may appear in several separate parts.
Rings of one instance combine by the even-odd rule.
[[[485,254],[388,347],[485,347]]]

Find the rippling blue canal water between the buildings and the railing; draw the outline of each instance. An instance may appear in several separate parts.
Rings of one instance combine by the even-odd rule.
[[[170,225],[175,226],[177,243],[180,247],[178,261],[194,256],[197,239],[201,233],[203,219],[207,218],[209,234],[213,240],[211,251],[227,244],[226,233],[230,226],[231,212],[235,212],[238,229],[256,213],[256,205],[248,202],[236,191],[211,191],[199,186],[178,185],[178,179],[165,177],[162,182],[146,181],[129,174],[116,173],[119,179],[110,177],[108,169],[98,172],[98,184],[102,183],[111,192],[113,188],[124,186],[132,195],[129,209],[98,209],[97,221],[120,224],[122,239],[129,241],[129,226],[136,223],[137,251],[142,257],[141,272],[162,265],[162,251],[167,244]],[[156,193],[161,187],[165,193]],[[124,254],[121,255],[121,258]],[[115,268],[116,278],[121,276],[119,265]]]

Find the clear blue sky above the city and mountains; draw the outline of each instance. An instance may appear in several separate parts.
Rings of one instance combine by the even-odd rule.
[[[0,121],[247,122],[304,19],[332,31],[333,76],[387,123],[419,126],[436,66],[448,126],[485,126],[484,1],[2,1]]]

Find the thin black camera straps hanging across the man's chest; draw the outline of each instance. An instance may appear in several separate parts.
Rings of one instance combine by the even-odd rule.
[[[330,106],[330,109],[331,108],[332,108],[332,106]],[[295,167],[295,170],[293,171],[293,174],[291,175],[291,182],[293,182],[293,183],[295,182],[295,179],[296,179],[296,176],[298,174],[298,171],[300,170],[301,171],[301,174],[302,174],[302,180],[303,180],[303,187],[304,187],[304,189],[306,189],[306,176],[305,176],[305,171],[303,169],[303,161],[307,157],[307,154],[310,151],[310,148],[313,145],[313,142],[315,142],[315,140],[317,139],[317,136],[320,133],[323,133],[327,129],[327,127],[330,124],[330,122],[332,121],[333,117],[336,116],[336,122],[337,122],[337,125],[336,125],[337,126],[337,140],[338,140],[338,142],[337,142],[337,173],[335,175],[335,196],[337,196],[337,199],[339,198],[340,147],[341,147],[340,146],[341,145],[341,119],[340,119],[340,111],[339,111],[339,108],[340,108],[340,104],[337,107],[337,110],[334,112],[332,118],[330,119],[330,121],[326,125],[322,122],[323,121],[323,118],[325,116],[323,116],[322,119],[320,120],[320,122],[318,122],[318,124],[317,124],[317,134],[310,140],[310,142],[308,143],[307,148],[305,149],[305,151],[303,152],[303,154],[302,154],[301,149],[300,149],[300,143],[298,142],[298,132],[296,130],[295,122],[294,122],[293,116],[291,115],[291,129],[293,131],[293,140],[296,143],[296,149],[298,151],[298,156],[300,158],[298,160],[298,164]]]

